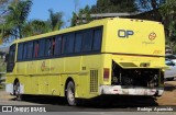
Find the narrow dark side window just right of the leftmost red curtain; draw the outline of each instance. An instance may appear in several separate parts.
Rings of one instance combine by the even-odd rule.
[[[38,57],[44,57],[45,53],[45,39],[40,39],[40,49],[38,49]]]

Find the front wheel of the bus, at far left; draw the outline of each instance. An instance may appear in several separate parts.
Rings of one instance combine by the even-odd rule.
[[[14,94],[18,101],[22,101],[22,94],[20,93],[20,82],[19,81],[14,84]]]

